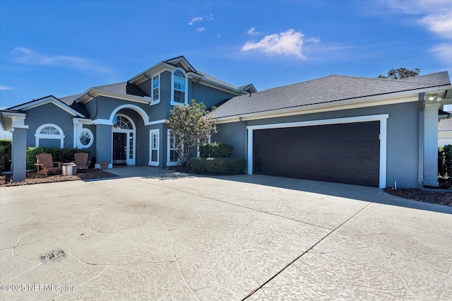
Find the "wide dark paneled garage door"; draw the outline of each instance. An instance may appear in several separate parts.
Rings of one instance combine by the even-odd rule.
[[[379,122],[256,129],[255,174],[379,187]]]

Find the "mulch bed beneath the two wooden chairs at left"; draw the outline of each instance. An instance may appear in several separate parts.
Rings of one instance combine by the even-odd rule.
[[[117,177],[111,172],[104,170],[91,169],[88,172],[77,172],[76,175],[64,176],[64,175],[36,175],[36,172],[27,172],[26,179],[23,182],[11,182],[11,175],[0,175],[0,187],[8,186],[20,186],[29,184],[51,183],[51,182],[64,182],[64,181],[76,181],[78,179],[103,179],[108,177]]]

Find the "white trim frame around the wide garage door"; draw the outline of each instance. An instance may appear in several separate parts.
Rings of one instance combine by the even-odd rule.
[[[253,174],[253,131],[256,129],[278,129],[299,126],[319,126],[325,124],[347,124],[355,122],[380,122],[380,167],[379,167],[379,188],[386,187],[386,151],[387,151],[387,119],[389,114],[367,115],[357,117],[344,117],[333,119],[319,119],[307,122],[285,122],[278,124],[261,124],[256,126],[246,126],[248,129],[248,175]]]

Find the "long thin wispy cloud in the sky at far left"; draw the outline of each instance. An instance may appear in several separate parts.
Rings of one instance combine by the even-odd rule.
[[[82,69],[96,72],[108,72],[109,69],[100,66],[92,59],[70,57],[67,55],[47,56],[25,47],[13,49],[13,61],[26,65],[62,66],[71,69]]]

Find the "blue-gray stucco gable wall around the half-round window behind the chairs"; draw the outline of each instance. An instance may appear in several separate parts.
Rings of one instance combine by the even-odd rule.
[[[73,148],[73,116],[71,114],[52,103],[34,107],[25,112],[27,113],[25,124],[29,126],[27,131],[27,147],[35,146],[35,134],[37,128],[43,124],[55,124],[64,132],[64,147]],[[59,140],[58,143],[52,140],[53,139],[40,139],[40,146],[60,147]]]

